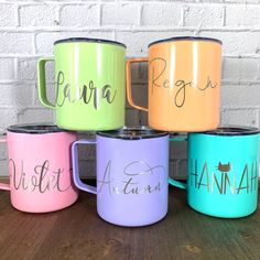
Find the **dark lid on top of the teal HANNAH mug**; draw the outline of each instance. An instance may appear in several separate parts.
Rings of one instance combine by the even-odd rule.
[[[260,133],[259,128],[250,128],[250,127],[219,127],[216,130],[203,132],[205,134],[214,134],[214,136],[248,136],[248,134],[257,134]]]

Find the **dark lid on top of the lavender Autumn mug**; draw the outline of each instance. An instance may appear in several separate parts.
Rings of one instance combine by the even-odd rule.
[[[160,138],[160,137],[165,137],[167,134],[169,134],[167,132],[153,130],[148,127],[133,127],[133,128],[123,127],[118,130],[97,132],[97,136],[100,136],[100,137],[123,139],[123,140],[140,140],[140,139],[149,139],[149,138]]]

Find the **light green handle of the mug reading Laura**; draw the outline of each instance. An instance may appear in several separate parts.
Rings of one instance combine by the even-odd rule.
[[[54,62],[54,57],[41,57],[37,61],[39,99],[45,107],[55,109],[55,106],[47,100],[47,94],[46,94],[45,64],[47,62]]]

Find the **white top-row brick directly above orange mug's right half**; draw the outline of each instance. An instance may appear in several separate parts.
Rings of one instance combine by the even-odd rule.
[[[218,4],[188,6],[184,14],[185,26],[221,26],[224,24],[224,8]]]

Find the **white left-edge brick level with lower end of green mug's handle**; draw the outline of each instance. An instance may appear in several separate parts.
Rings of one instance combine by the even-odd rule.
[[[33,101],[33,87],[29,85],[21,84],[4,84],[0,85],[1,97],[0,97],[0,106],[9,105],[9,106],[29,106],[32,105]]]

